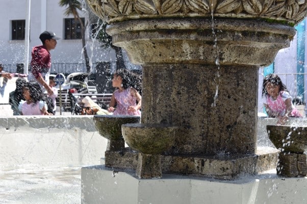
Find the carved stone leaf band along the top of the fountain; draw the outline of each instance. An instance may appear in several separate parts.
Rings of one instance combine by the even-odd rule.
[[[109,23],[161,17],[265,18],[294,25],[306,15],[307,0],[86,0]]]

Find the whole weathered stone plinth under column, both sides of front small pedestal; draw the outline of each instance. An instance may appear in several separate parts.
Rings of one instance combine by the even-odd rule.
[[[162,173],[182,174],[206,178],[234,180],[245,175],[275,168],[279,151],[258,148],[256,154],[222,156],[161,155]],[[136,170],[138,153],[126,148],[123,152],[106,151],[106,166]],[[163,175],[162,175],[163,177]]]

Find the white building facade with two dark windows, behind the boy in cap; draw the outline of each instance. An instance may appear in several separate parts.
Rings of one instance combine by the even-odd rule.
[[[76,23],[72,15],[64,15],[65,8],[59,6],[58,0],[2,0],[1,3],[0,63],[13,68],[17,64],[27,64],[25,53],[29,50],[28,59],[31,61],[32,47],[42,44],[39,35],[43,31],[53,31],[61,39],[58,40],[56,49],[50,51],[52,63],[84,64],[80,25]],[[28,12],[29,8],[30,12]],[[86,22],[86,11],[79,13]],[[28,22],[30,22],[29,46],[27,46]],[[115,61],[115,52],[101,47],[91,38],[89,31],[86,32],[86,48],[90,61],[94,65],[100,61]],[[57,70],[53,71],[57,72]]]

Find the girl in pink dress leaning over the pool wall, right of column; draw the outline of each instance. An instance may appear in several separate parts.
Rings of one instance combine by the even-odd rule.
[[[262,96],[265,96],[263,103],[269,117],[279,119],[277,124],[285,124],[288,117],[302,117],[278,75],[269,74],[264,78]]]

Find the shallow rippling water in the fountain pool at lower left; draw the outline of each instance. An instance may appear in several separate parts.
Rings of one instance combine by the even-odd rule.
[[[1,204],[79,204],[81,167],[0,171]]]

